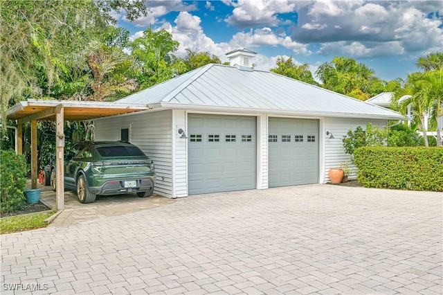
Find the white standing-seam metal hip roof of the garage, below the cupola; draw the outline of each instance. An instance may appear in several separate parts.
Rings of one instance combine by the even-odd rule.
[[[208,64],[117,103],[212,111],[404,119],[404,116],[268,71]]]

